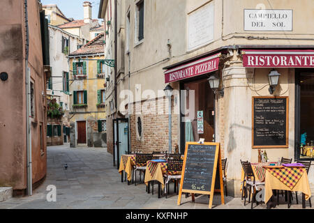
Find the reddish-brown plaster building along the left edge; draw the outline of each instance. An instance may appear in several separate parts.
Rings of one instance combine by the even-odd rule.
[[[0,5],[0,186],[31,194],[47,172],[47,20],[36,0]]]

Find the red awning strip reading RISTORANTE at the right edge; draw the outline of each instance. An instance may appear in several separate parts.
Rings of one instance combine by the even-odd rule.
[[[246,68],[313,68],[313,50],[254,50],[244,49]]]

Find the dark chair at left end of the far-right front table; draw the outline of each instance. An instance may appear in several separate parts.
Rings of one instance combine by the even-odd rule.
[[[248,203],[251,203],[251,209],[253,209],[253,203],[255,201],[255,189],[260,186],[264,186],[264,182],[260,182],[258,180],[255,180],[255,175],[251,166],[251,162],[243,162],[242,167],[244,170],[244,178],[246,178],[246,189],[245,189],[245,195],[244,195],[244,206],[246,205],[246,196],[247,196],[247,190],[248,187],[250,189],[250,192],[248,194]],[[253,180],[252,180],[253,178]],[[252,192],[252,201],[251,200],[251,192]]]

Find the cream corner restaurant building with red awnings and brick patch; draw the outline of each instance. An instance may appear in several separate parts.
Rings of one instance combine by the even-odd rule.
[[[187,141],[202,138],[219,142],[227,194],[241,196],[240,160],[257,162],[259,149],[274,162],[313,159],[313,1],[144,1],[144,40],[138,41],[139,2],[126,1],[119,10],[128,50],[119,49],[126,53],[117,114],[130,123],[128,150],[167,151],[169,114],[137,114],[136,108],[154,100],[159,111],[165,100],[161,110],[167,111],[158,92],[169,84],[172,151],[177,144],[184,153]],[[119,107],[126,89],[155,94]],[[313,185],[312,169],[308,179]]]

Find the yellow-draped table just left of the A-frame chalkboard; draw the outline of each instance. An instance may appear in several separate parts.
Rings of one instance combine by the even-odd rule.
[[[167,174],[167,161],[160,162],[149,160],[147,161],[146,171],[145,171],[145,178],[144,183],[148,186],[147,192],[149,191],[149,183],[152,180],[158,181],[158,198],[161,197],[160,185],[162,189],[165,188],[165,182],[163,181],[163,174]],[[172,172],[172,174],[181,174],[181,171]]]

